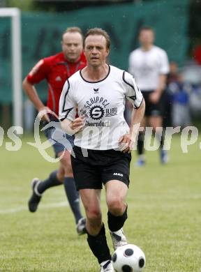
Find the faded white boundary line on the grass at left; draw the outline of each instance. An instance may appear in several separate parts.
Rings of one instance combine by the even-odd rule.
[[[51,208],[59,208],[59,207],[65,207],[69,206],[68,202],[55,202],[55,203],[49,203],[49,204],[40,204],[40,210],[43,209],[51,209]],[[27,206],[20,206],[14,209],[0,209],[0,214],[8,214],[8,213],[19,213],[20,211],[29,211]]]

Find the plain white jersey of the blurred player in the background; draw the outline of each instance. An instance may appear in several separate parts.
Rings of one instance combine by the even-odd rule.
[[[149,51],[137,48],[131,52],[128,61],[128,71],[142,91],[156,90],[159,75],[166,75],[170,70],[166,52],[155,45]]]

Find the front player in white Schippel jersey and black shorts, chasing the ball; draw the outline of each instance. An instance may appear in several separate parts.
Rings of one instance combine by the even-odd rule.
[[[101,189],[104,185],[115,249],[127,243],[122,227],[127,218],[131,148],[137,134],[133,127],[140,124],[145,107],[134,78],[107,65],[109,52],[108,34],[90,29],[84,38],[87,66],[66,81],[59,102],[62,128],[76,132],[71,162],[87,215],[87,241],[101,271],[114,271],[102,221]],[[134,107],[131,128],[124,119],[126,98]]]

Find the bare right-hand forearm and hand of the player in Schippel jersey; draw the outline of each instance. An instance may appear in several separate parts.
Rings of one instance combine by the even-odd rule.
[[[135,144],[135,139],[137,137],[137,133],[140,128],[140,122],[142,121],[144,116],[144,110],[145,110],[145,103],[143,99],[140,107],[138,107],[137,109],[133,109],[130,133],[124,136],[121,136],[119,139],[119,144],[121,144],[121,151],[123,151],[124,153],[126,152],[130,153],[131,150],[133,149],[133,146]],[[137,126],[138,124],[139,126]]]

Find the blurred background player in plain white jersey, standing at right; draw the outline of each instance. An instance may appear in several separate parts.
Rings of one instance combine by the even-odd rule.
[[[163,150],[163,135],[157,132],[157,128],[163,126],[161,95],[165,89],[167,74],[169,73],[168,56],[166,52],[154,45],[154,30],[150,27],[142,27],[139,34],[140,47],[131,52],[129,56],[128,71],[135,77],[139,86],[146,109],[141,126],[151,126],[156,132],[156,137],[161,142],[161,163],[168,162],[168,154]],[[137,142],[139,158],[137,165],[142,166],[144,160],[144,131],[140,130]]]

